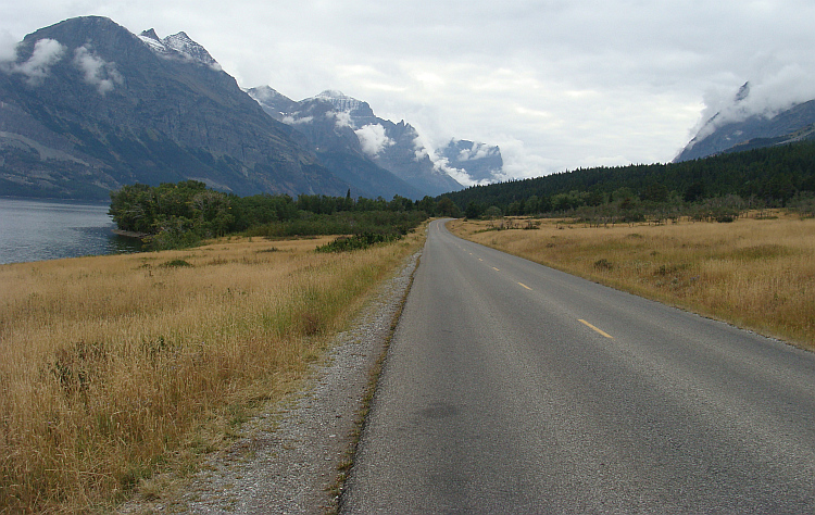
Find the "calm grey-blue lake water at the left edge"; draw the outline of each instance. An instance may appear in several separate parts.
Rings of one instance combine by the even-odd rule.
[[[0,198],[0,264],[138,250],[104,203]]]

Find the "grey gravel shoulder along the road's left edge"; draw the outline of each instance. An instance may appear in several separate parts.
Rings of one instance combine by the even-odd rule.
[[[336,512],[340,467],[353,453],[371,374],[387,350],[419,255],[406,260],[350,329],[337,335],[305,388],[247,422],[174,499],[137,500],[120,513]]]

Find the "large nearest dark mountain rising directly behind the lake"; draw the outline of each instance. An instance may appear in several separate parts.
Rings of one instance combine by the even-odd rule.
[[[0,63],[0,194],[106,199],[185,179],[237,194],[372,189],[333,174],[185,33],[77,17]]]

